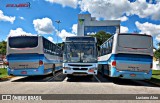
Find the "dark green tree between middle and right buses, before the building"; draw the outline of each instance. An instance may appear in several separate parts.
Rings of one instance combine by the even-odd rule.
[[[104,31],[99,31],[97,34],[92,35],[92,37],[96,37],[97,38],[98,47],[100,47],[100,45],[102,45],[111,36],[112,36],[111,34],[108,34],[108,33],[104,32]]]

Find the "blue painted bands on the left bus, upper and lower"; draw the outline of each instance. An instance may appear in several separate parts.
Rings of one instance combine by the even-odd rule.
[[[60,60],[48,60],[45,58],[44,54],[10,54],[7,56],[7,60],[12,63],[16,62],[39,62],[42,60],[43,63],[47,64],[59,64],[62,63]],[[62,69],[62,66],[55,67],[55,70]],[[38,71],[37,71],[38,70]],[[22,71],[26,71],[27,74],[21,74]],[[44,75],[52,72],[52,68],[44,69],[44,65],[38,68],[27,68],[27,69],[14,69],[11,71],[8,68],[8,74],[13,74],[17,76],[28,76],[28,75]]]

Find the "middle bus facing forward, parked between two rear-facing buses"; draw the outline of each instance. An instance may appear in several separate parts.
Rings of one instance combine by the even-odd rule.
[[[63,49],[63,74],[67,74],[67,77],[97,75],[95,37],[66,37]]]

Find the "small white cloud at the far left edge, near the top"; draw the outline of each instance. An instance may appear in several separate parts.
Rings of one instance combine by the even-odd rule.
[[[12,16],[5,16],[3,14],[3,11],[0,10],[0,21],[9,21],[13,24],[14,20],[16,19],[16,17],[12,17]]]

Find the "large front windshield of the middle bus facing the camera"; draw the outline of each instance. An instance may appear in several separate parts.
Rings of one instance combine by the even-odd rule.
[[[96,43],[66,43],[63,62],[95,63],[97,62]]]

